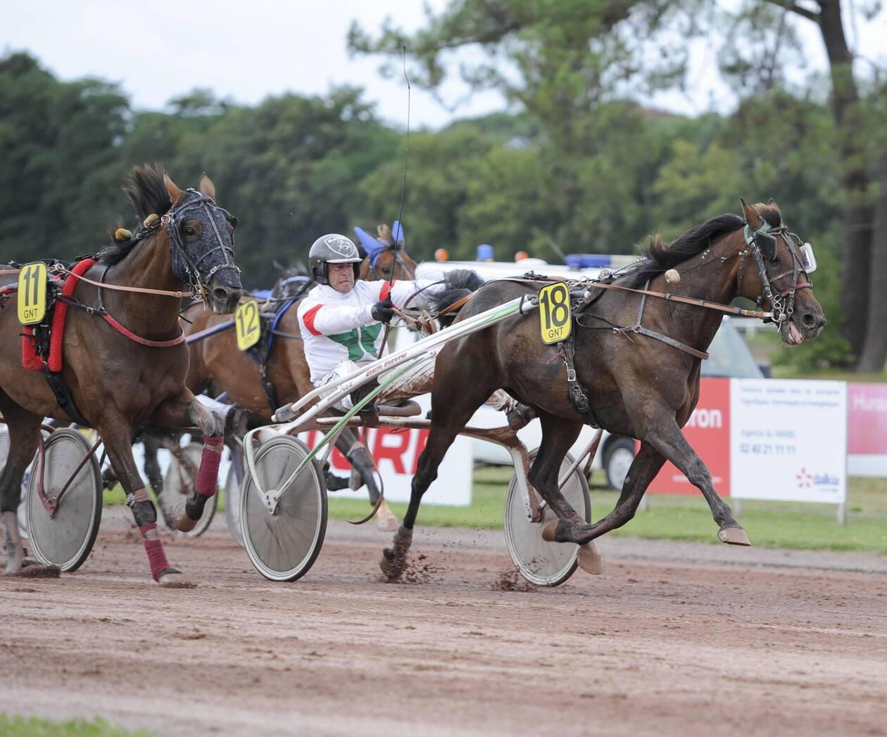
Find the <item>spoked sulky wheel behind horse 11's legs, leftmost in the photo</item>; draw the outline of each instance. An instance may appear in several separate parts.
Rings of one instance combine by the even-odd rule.
[[[71,428],[57,430],[45,440],[46,499],[57,499],[71,479],[53,516],[38,493],[38,464],[31,466],[27,477],[27,532],[34,557],[44,565],[77,570],[96,541],[102,518],[102,477],[95,454],[90,454],[82,468],[76,470],[89,453],[90,443]]]

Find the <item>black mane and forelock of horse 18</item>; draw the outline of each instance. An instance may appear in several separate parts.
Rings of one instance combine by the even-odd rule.
[[[754,209],[769,225],[779,228],[782,223],[779,206],[775,203],[758,202]],[[626,269],[617,282],[632,289],[642,287],[648,279],[663,274],[670,268],[675,268],[687,259],[702,253],[718,238],[744,225],[745,221],[739,215],[726,213],[684,231],[668,245],[663,244],[662,238],[658,235],[654,236],[650,238],[650,244],[643,253],[644,259]]]

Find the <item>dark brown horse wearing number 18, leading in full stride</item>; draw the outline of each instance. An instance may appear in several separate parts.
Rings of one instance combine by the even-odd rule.
[[[782,223],[778,206],[773,200],[755,207],[743,201],[742,209],[744,221],[721,215],[689,229],[668,248],[655,242],[647,260],[615,283],[632,289],[648,284],[650,291],[722,304],[742,296],[773,312],[786,344],[815,337],[825,317],[805,272],[805,256]],[[521,295],[535,295],[540,286],[489,283],[459,319]],[[602,291],[578,313],[573,325],[575,368],[590,400],[590,414],[581,415],[570,401],[565,353],[560,345],[541,342],[538,310],[456,340],[438,355],[428,444],[394,548],[387,549],[381,561],[389,578],[399,577],[404,569],[422,494],[436,478],[443,454],[475,409],[499,387],[534,407],[542,423],[542,445],[530,482],[559,517],[556,525],[540,530],[546,539],[582,545],[627,523],[669,460],[703,493],[718,524],[718,539],[750,544],[718,496],[709,469],[681,432],[699,399],[701,352],[718,331],[721,313],[619,290]],[[471,376],[470,382],[466,376]],[[617,435],[639,438],[640,452],[616,508],[586,524],[559,492],[557,473],[583,423],[593,420]]]

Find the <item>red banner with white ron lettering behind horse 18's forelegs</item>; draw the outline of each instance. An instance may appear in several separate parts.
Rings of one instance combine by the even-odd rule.
[[[711,471],[721,496],[730,495],[730,379],[703,378],[699,402],[684,427],[684,435]],[[691,494],[699,490],[665,462],[648,488],[650,493]]]

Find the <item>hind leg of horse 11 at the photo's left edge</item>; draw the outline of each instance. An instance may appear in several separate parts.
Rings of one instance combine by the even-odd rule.
[[[19,535],[19,503],[21,479],[27,464],[34,458],[40,438],[42,417],[28,412],[0,392],[0,409],[9,428],[9,455],[0,476],[0,519],[2,519],[6,569],[4,575],[14,576],[24,565],[25,549]]]

